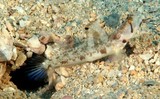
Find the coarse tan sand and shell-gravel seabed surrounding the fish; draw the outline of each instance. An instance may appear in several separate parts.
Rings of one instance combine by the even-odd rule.
[[[100,20],[102,29],[112,34],[128,14],[137,12],[144,15],[140,27],[140,33],[144,34],[129,41],[127,49],[132,53],[128,56],[118,57],[117,61],[97,60],[57,70],[59,80],[55,90],[46,92],[44,84],[39,84],[36,90],[25,90],[21,89],[23,84],[19,86],[12,80],[15,76],[11,71],[22,68],[33,52],[45,51],[46,39],[40,40],[42,45],[30,46],[39,44],[38,50],[29,50],[33,36],[39,40],[51,33],[60,38],[71,35],[79,42],[86,37],[85,29],[91,22]],[[9,62],[0,63],[0,99],[160,98],[159,0],[0,0],[0,20],[0,34],[7,38],[2,41],[0,37],[0,42],[16,49]],[[1,48],[5,46],[2,44]]]

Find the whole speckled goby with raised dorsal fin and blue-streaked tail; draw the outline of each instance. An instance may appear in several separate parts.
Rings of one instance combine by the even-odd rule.
[[[99,25],[95,25],[98,24],[97,21],[94,22],[87,31],[86,41],[75,48],[58,50],[58,53],[50,59],[45,59],[38,65],[33,66],[32,69],[27,70],[29,79],[38,80],[43,78],[46,73],[49,76],[51,74],[49,73],[50,70],[57,67],[75,66],[121,53],[127,42],[137,36],[136,32],[142,18],[143,15],[141,14],[128,17],[120,28],[110,36]],[[34,63],[34,61],[31,61],[31,63]]]

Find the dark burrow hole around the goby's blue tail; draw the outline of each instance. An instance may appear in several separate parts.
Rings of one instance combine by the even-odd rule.
[[[11,81],[22,91],[34,92],[39,88],[43,88],[48,83],[47,73],[43,72],[44,74],[40,79],[34,79],[35,75],[29,76],[29,74],[33,73],[31,70],[35,69],[36,66],[40,66],[44,60],[43,56],[34,54],[32,58],[26,60],[25,65],[21,66],[20,69],[10,73]]]

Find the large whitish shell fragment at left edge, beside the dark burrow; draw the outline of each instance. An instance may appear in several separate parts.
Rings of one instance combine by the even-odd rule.
[[[0,31],[0,62],[9,61],[13,54],[13,40],[6,29]]]

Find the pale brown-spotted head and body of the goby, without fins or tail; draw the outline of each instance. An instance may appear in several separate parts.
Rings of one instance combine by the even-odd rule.
[[[125,47],[129,39],[135,36],[142,18],[143,15],[141,14],[129,17],[122,26],[113,33],[113,35],[107,36],[104,34],[104,31],[102,31],[103,34],[99,34],[99,39],[104,40],[104,38],[106,38],[106,41],[99,44],[93,44],[94,41],[88,40],[81,46],[60,53],[58,56],[52,57],[51,60],[47,60],[45,63],[53,68],[60,66],[73,66],[116,54]],[[96,32],[93,32],[92,35],[95,35],[94,33]],[[94,36],[90,39],[93,39],[93,37]]]

